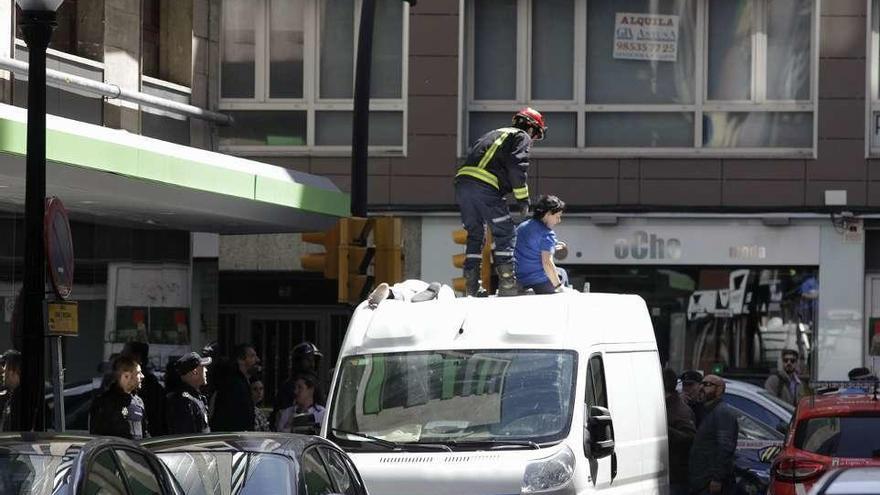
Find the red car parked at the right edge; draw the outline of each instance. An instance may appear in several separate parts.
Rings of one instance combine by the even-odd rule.
[[[801,399],[782,452],[770,468],[770,495],[803,495],[826,471],[880,466],[880,400],[840,391]]]

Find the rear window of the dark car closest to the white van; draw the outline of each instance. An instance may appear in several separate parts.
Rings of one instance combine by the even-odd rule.
[[[169,452],[159,459],[187,495],[296,495],[295,466],[277,454]]]

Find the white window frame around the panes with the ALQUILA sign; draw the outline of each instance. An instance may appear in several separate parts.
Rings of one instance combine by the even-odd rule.
[[[513,113],[523,105],[531,105],[542,113],[575,113],[576,143],[573,148],[535,146],[532,156],[538,158],[620,158],[620,157],[747,157],[747,158],[816,158],[819,131],[819,43],[820,16],[822,0],[813,1],[813,15],[810,30],[810,99],[804,101],[766,99],[766,25],[769,0],[755,0],[760,7],[755,9],[755,29],[752,32],[752,99],[748,101],[708,100],[708,22],[709,0],[696,1],[696,36],[694,46],[694,103],[693,104],[597,104],[586,101],[586,57],[587,46],[587,15],[589,3],[595,0],[572,0],[574,2],[574,99],[572,100],[532,100],[531,99],[531,52],[532,39],[529,25],[532,17],[533,2],[538,0],[517,1],[517,70],[515,100],[475,100],[475,26],[474,1],[460,0],[460,11],[463,13],[459,22],[459,53],[463,62],[459,63],[459,125],[458,125],[458,156],[467,154],[469,143],[469,122],[472,112],[504,112]],[[870,0],[869,0],[870,1]],[[869,16],[870,22],[870,16]],[[764,32],[762,33],[762,29]],[[880,109],[880,102],[878,102]],[[693,116],[694,144],[692,147],[588,147],[586,146],[586,120],[588,113],[688,113]],[[708,112],[799,112],[812,115],[812,144],[809,148],[710,148],[703,146],[703,115]],[[552,132],[553,123],[549,122]],[[880,152],[880,149],[878,149]]]

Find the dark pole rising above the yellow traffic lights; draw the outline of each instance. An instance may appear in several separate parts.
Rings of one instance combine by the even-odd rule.
[[[415,5],[416,0],[405,0]],[[367,148],[370,143],[370,76],[376,0],[363,0],[354,71],[354,115],[351,136],[351,216],[367,217]]]

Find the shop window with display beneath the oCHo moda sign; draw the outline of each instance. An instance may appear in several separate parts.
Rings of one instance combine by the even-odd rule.
[[[783,349],[809,376],[820,281],[815,266],[566,265],[574,287],[638,294],[651,313],[661,362],[676,370],[776,369]],[[775,427],[775,423],[771,426]]]

